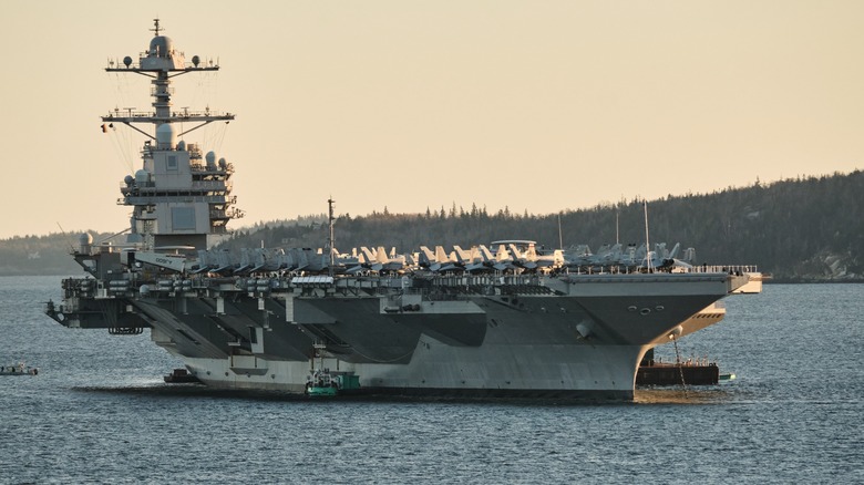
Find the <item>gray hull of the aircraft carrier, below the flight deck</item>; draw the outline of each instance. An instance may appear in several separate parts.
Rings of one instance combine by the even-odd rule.
[[[323,359],[370,393],[629,399],[645,352],[720,321],[714,302],[747,277],[299,280],[199,278],[105,297],[124,310],[114,321],[140,318],[214,386],[302,392]],[[83,317],[65,321],[88,327]]]

